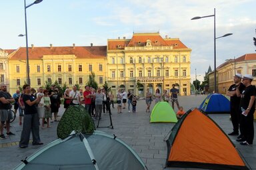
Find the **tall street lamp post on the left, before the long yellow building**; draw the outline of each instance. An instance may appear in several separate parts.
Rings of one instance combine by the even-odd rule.
[[[25,10],[25,35],[19,35],[19,37],[23,37],[26,36],[26,54],[27,54],[27,58],[26,58],[26,62],[27,62],[27,84],[30,85],[30,78],[29,78],[29,46],[28,46],[28,41],[27,41],[27,8],[31,7],[34,4],[37,3],[41,3],[41,1],[43,0],[36,0],[33,3],[31,3],[30,5],[26,5],[26,0],[24,0],[24,10]]]

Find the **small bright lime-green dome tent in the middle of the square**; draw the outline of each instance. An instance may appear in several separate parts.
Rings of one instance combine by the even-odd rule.
[[[153,108],[150,116],[150,123],[157,123],[157,122],[163,122],[163,123],[178,122],[176,114],[173,108],[171,108],[169,103],[157,102],[157,104]]]

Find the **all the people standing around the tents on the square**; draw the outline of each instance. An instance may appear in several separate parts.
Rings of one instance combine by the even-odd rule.
[[[243,82],[241,80],[243,79]],[[234,82],[230,86],[227,96],[231,96],[231,120],[233,124],[233,131],[229,135],[240,135],[237,137],[237,141],[241,142],[241,145],[251,145],[253,143],[253,113],[255,111],[255,86],[251,85],[253,76],[245,74],[235,74]],[[1,84],[0,91],[0,139],[6,139],[3,133],[3,126],[6,126],[6,135],[15,135],[10,131],[11,120],[11,104],[14,103],[15,114],[19,111],[19,125],[23,125],[21,132],[21,140],[19,147],[25,148],[29,143],[30,131],[33,135],[33,145],[42,145],[39,137],[39,128],[51,128],[53,122],[59,122],[58,112],[61,104],[61,98],[64,99],[64,108],[67,109],[71,105],[84,104],[85,109],[89,115],[95,120],[99,119],[102,112],[103,114],[109,113],[110,108],[115,109],[114,101],[117,101],[117,114],[122,114],[122,111],[126,108],[128,112],[137,112],[137,96],[130,90],[119,89],[116,97],[112,92],[107,92],[105,88],[94,88],[85,86],[85,91],[79,89],[77,86],[73,86],[72,89],[67,88],[62,95],[59,89],[53,84],[50,90],[43,89],[42,87],[37,89],[31,88],[28,84],[23,86],[23,90],[17,90],[13,96],[7,92],[7,86]],[[146,112],[151,112],[150,107],[153,100],[155,104],[157,102],[170,102],[173,110],[174,104],[177,105],[177,118],[181,118],[185,111],[182,106],[179,106],[178,101],[179,90],[175,88],[175,84],[172,85],[170,92],[163,90],[161,94],[157,88],[155,94],[152,94],[147,88],[145,93]],[[41,119],[41,121],[39,121]],[[45,127],[46,124],[46,127]]]

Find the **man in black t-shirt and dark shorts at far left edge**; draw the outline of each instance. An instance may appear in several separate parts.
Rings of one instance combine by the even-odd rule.
[[[15,135],[10,131],[10,120],[11,118],[11,102],[15,102],[15,100],[11,97],[11,94],[7,92],[7,86],[5,84],[1,84],[1,92],[0,92],[0,139],[6,139],[3,134],[3,126],[6,125],[7,135]]]

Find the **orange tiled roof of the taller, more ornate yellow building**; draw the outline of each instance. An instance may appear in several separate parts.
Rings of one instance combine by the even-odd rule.
[[[163,39],[159,33],[133,33],[131,39],[109,39],[108,50],[123,50],[125,46],[145,46],[147,40],[152,46],[173,46],[173,48],[187,48],[179,39]]]

